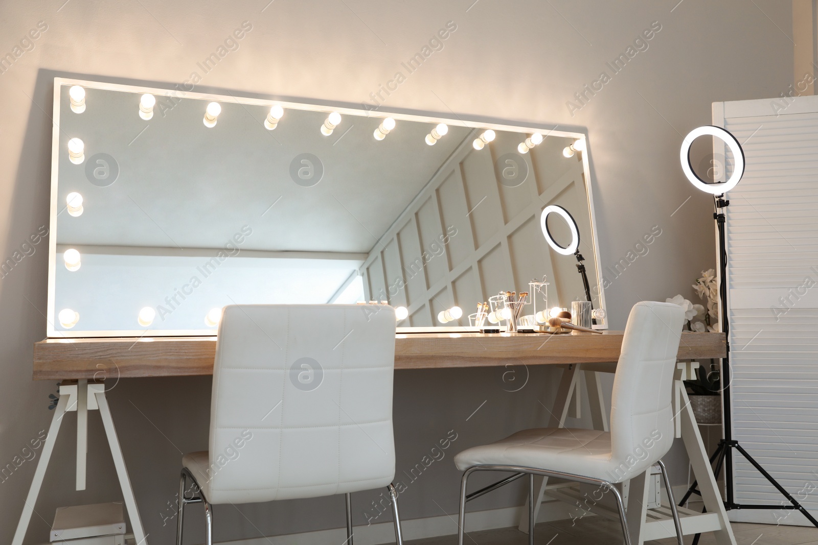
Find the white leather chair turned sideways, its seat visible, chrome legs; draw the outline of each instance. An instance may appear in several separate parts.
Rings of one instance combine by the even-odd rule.
[[[684,316],[681,306],[670,303],[640,302],[631,309],[613,379],[610,432],[569,428],[524,430],[456,455],[457,468],[465,471],[461,481],[459,545],[463,545],[465,503],[525,475],[529,481],[529,544],[534,543],[534,476],[541,475],[596,485],[601,492],[610,491],[617,503],[625,543],[630,545],[625,506],[614,485],[648,471],[655,463],[662,470],[676,538],[683,545],[676,503],[661,458],[674,438],[671,398]],[[466,484],[474,471],[511,471],[514,475],[467,495]],[[591,502],[596,503],[602,494],[592,496]]]

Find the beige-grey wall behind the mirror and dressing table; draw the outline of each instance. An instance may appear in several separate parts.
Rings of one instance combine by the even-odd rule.
[[[612,326],[622,328],[634,302],[676,293],[693,297],[689,286],[699,270],[715,264],[711,203],[694,193],[678,166],[682,136],[710,123],[712,101],[780,96],[793,81],[789,2],[266,4],[2,2],[0,54],[14,51],[38,21],[47,30],[33,42],[23,41],[20,57],[0,74],[0,259],[11,257],[47,225],[55,75],[182,83],[191,72],[201,73],[196,63],[247,20],[253,29],[239,50],[209,74],[200,74],[197,88],[360,104],[371,101],[370,94],[394,79],[401,62],[452,20],[457,29],[443,49],[390,96],[381,92],[385,104],[444,116],[453,112],[587,128],[603,268],[625,257],[652,226],[662,228],[649,254],[611,279],[606,290]],[[654,21],[661,30],[634,46]],[[633,58],[618,72],[606,64],[628,53]],[[583,86],[593,85],[603,71],[609,81],[592,96]],[[569,105],[578,92],[586,92],[584,105]],[[46,269],[41,244],[0,279],[3,465],[47,427],[51,415],[47,395],[55,391],[54,384],[30,380],[31,346],[45,332]],[[449,430],[460,434],[453,446],[461,449],[542,422],[537,400],[551,399],[555,373],[533,371],[524,390],[512,394],[504,391],[503,371],[398,373],[398,472],[414,465]],[[175,493],[181,452],[205,447],[209,379],[123,381],[110,400],[152,543],[171,543],[173,521],[163,526],[162,516]],[[483,400],[483,409],[466,421]],[[65,431],[73,426],[65,422]],[[55,507],[118,497],[96,418],[91,434],[88,490],[78,494],[72,492],[73,441],[69,434],[61,436],[56,446],[61,459],[47,475],[47,494],[37,504],[29,543],[45,541]],[[433,499],[443,510],[456,511],[458,477],[450,459],[429,467],[428,478],[422,476],[402,497],[407,518],[443,514]],[[684,480],[686,468],[676,462],[674,479]],[[11,540],[33,473],[34,462],[25,462],[0,482],[2,543]],[[359,505],[372,498],[356,496]],[[481,498],[475,507],[521,501],[519,489],[510,489]],[[328,507],[338,509],[328,512]],[[220,507],[216,538],[339,527],[340,507],[339,498]],[[201,516],[191,519],[195,524]],[[201,542],[198,526],[190,538]]]

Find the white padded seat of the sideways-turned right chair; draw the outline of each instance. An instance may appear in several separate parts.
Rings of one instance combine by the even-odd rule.
[[[607,431],[546,427],[518,431],[506,439],[466,449],[455,456],[457,469],[483,465],[533,467],[618,483],[645,471],[634,460],[617,464],[611,459]],[[637,467],[639,466],[639,467]],[[634,470],[641,469],[641,471]]]

